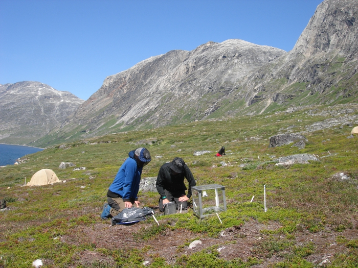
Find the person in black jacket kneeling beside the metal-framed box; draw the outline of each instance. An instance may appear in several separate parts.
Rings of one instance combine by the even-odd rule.
[[[184,178],[189,183],[187,194],[185,194],[187,187],[184,184]],[[176,204],[176,209],[181,209],[181,206],[182,209],[187,209],[187,201],[191,197],[191,187],[195,185],[193,174],[182,158],[175,157],[171,163],[162,165],[155,184],[156,190],[161,195],[159,209],[163,212],[164,204],[173,201]]]

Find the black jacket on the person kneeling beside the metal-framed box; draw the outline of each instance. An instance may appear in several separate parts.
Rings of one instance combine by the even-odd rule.
[[[187,181],[189,182],[187,197],[190,198],[191,187],[196,185],[193,174],[191,173],[189,167],[184,165],[184,172],[174,175],[172,169],[170,168],[171,164],[172,163],[166,163],[159,169],[155,184],[156,190],[158,190],[161,198],[165,197],[164,189],[169,192],[185,191],[187,187],[184,184],[184,178],[187,178]]]

